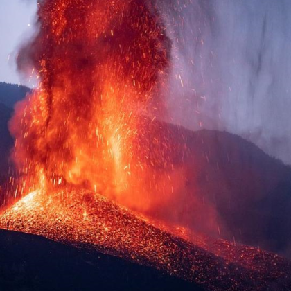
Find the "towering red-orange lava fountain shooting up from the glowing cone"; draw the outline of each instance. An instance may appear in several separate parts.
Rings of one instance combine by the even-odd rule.
[[[157,9],[143,0],[38,6],[38,33],[18,66],[37,72],[39,89],[10,122],[21,173],[15,191],[73,184],[144,205],[147,145],[135,141],[145,120],[164,110],[159,90],[170,67]]]

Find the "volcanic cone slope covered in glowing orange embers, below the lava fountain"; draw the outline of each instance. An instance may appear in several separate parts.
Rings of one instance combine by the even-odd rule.
[[[118,256],[206,290],[290,290],[291,265],[275,254],[202,236],[186,240],[179,229],[81,188],[30,193],[1,215],[0,227]]]

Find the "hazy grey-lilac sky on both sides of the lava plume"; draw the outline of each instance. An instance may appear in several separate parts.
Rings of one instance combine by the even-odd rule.
[[[291,164],[291,1],[156,1],[173,42],[169,121],[239,134]],[[1,0],[1,81],[21,80],[7,56],[35,7]]]

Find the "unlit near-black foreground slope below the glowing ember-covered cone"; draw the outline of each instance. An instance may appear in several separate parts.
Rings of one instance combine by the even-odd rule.
[[[192,290],[195,284],[113,256],[0,230],[0,290]]]

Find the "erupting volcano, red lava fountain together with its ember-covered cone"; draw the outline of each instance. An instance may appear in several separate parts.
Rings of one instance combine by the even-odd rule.
[[[156,120],[166,114],[172,48],[157,3],[38,6],[37,33],[18,66],[33,71],[39,88],[10,121],[19,173],[8,193],[19,201],[0,227],[120,256],[206,290],[290,290],[283,258],[153,218],[179,199],[181,163],[191,159],[188,137]]]

